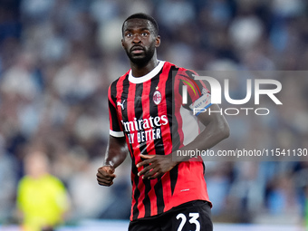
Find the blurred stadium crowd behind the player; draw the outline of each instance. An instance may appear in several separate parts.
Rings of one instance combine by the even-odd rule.
[[[308,148],[305,0],[0,0],[0,224],[18,222],[24,158],[37,151],[67,189],[67,222],[129,217],[130,159],[111,188],[95,174],[109,136],[108,86],[129,69],[121,24],[137,12],[159,23],[160,60],[196,71],[293,71],[276,77],[284,105],[266,102],[262,118],[226,116],[231,136],[216,149]],[[231,81],[230,95],[243,99],[246,79]],[[215,221],[308,219],[308,162],[206,166]]]

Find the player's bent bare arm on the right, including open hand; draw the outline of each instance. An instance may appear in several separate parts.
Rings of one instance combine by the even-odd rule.
[[[212,105],[212,111],[219,111],[219,106],[217,104]],[[221,140],[225,140],[229,136],[229,126],[226,122],[226,119],[220,113],[212,113],[209,115],[207,112],[200,113],[198,119],[206,126],[206,129],[203,130],[196,139],[191,141],[185,147],[182,147],[180,150],[191,150],[191,149],[203,149],[207,150],[214,147]],[[143,168],[139,172],[139,176],[143,175],[143,178],[158,178],[167,171],[174,168],[179,162],[186,161],[190,157],[180,157],[178,161],[172,161],[171,155],[141,155],[143,160],[137,167],[140,168],[144,165],[149,165],[146,168]]]

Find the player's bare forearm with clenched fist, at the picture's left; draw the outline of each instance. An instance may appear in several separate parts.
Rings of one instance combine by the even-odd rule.
[[[99,185],[111,186],[113,184],[113,179],[116,178],[116,175],[114,174],[115,168],[126,159],[127,153],[128,149],[124,137],[109,137],[103,166],[98,169],[96,174]]]

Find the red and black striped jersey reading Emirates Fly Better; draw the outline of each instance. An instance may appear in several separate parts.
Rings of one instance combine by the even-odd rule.
[[[152,217],[188,201],[207,200],[204,164],[185,161],[156,179],[142,179],[136,165],[141,154],[168,155],[199,134],[197,117],[189,105],[200,99],[205,86],[195,72],[159,61],[151,72],[133,77],[131,70],[109,88],[110,134],[125,136],[131,157],[132,203],[130,220]],[[187,101],[183,104],[183,85]],[[208,92],[208,91],[207,91]]]

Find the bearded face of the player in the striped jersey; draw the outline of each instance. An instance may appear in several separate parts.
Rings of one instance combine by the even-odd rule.
[[[131,63],[139,66],[149,63],[160,43],[154,31],[154,26],[146,19],[133,18],[125,22],[122,46]]]

